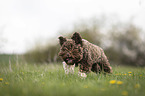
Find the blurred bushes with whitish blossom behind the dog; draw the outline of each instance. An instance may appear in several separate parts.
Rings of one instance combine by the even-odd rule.
[[[91,18],[80,20],[70,29],[62,29],[59,35],[70,38],[74,32],[80,32],[83,39],[102,47],[112,64],[145,66],[144,32],[131,22],[112,23],[106,18]],[[37,46],[24,57],[26,61],[35,63],[62,62],[58,56],[59,49],[58,42]]]

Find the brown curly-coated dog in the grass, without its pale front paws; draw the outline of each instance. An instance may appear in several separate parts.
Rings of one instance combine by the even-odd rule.
[[[59,43],[61,45],[59,56],[67,65],[79,64],[81,73],[90,71],[112,73],[112,67],[103,49],[82,39],[79,33],[75,32],[71,39],[60,36]]]

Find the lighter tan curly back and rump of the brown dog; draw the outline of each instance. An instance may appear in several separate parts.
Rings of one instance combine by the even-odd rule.
[[[88,64],[90,64],[90,66],[96,66],[100,68],[98,70],[104,69],[104,71],[111,73],[110,63],[108,62],[108,59],[103,49],[95,44],[90,43],[85,39],[82,39],[82,41],[82,47],[84,49],[83,51],[85,56],[84,58],[87,59],[87,61],[89,62]]]

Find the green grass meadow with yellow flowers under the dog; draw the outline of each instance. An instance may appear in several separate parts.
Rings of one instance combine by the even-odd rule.
[[[12,63],[12,72],[1,65],[0,96],[145,96],[145,68],[114,66],[113,74],[90,73],[82,79],[78,68],[66,75],[61,64]]]

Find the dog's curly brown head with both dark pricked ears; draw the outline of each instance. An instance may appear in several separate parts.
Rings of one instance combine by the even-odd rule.
[[[75,32],[71,39],[59,37],[61,45],[59,56],[68,64],[73,65],[83,58],[83,44],[79,33]]]

